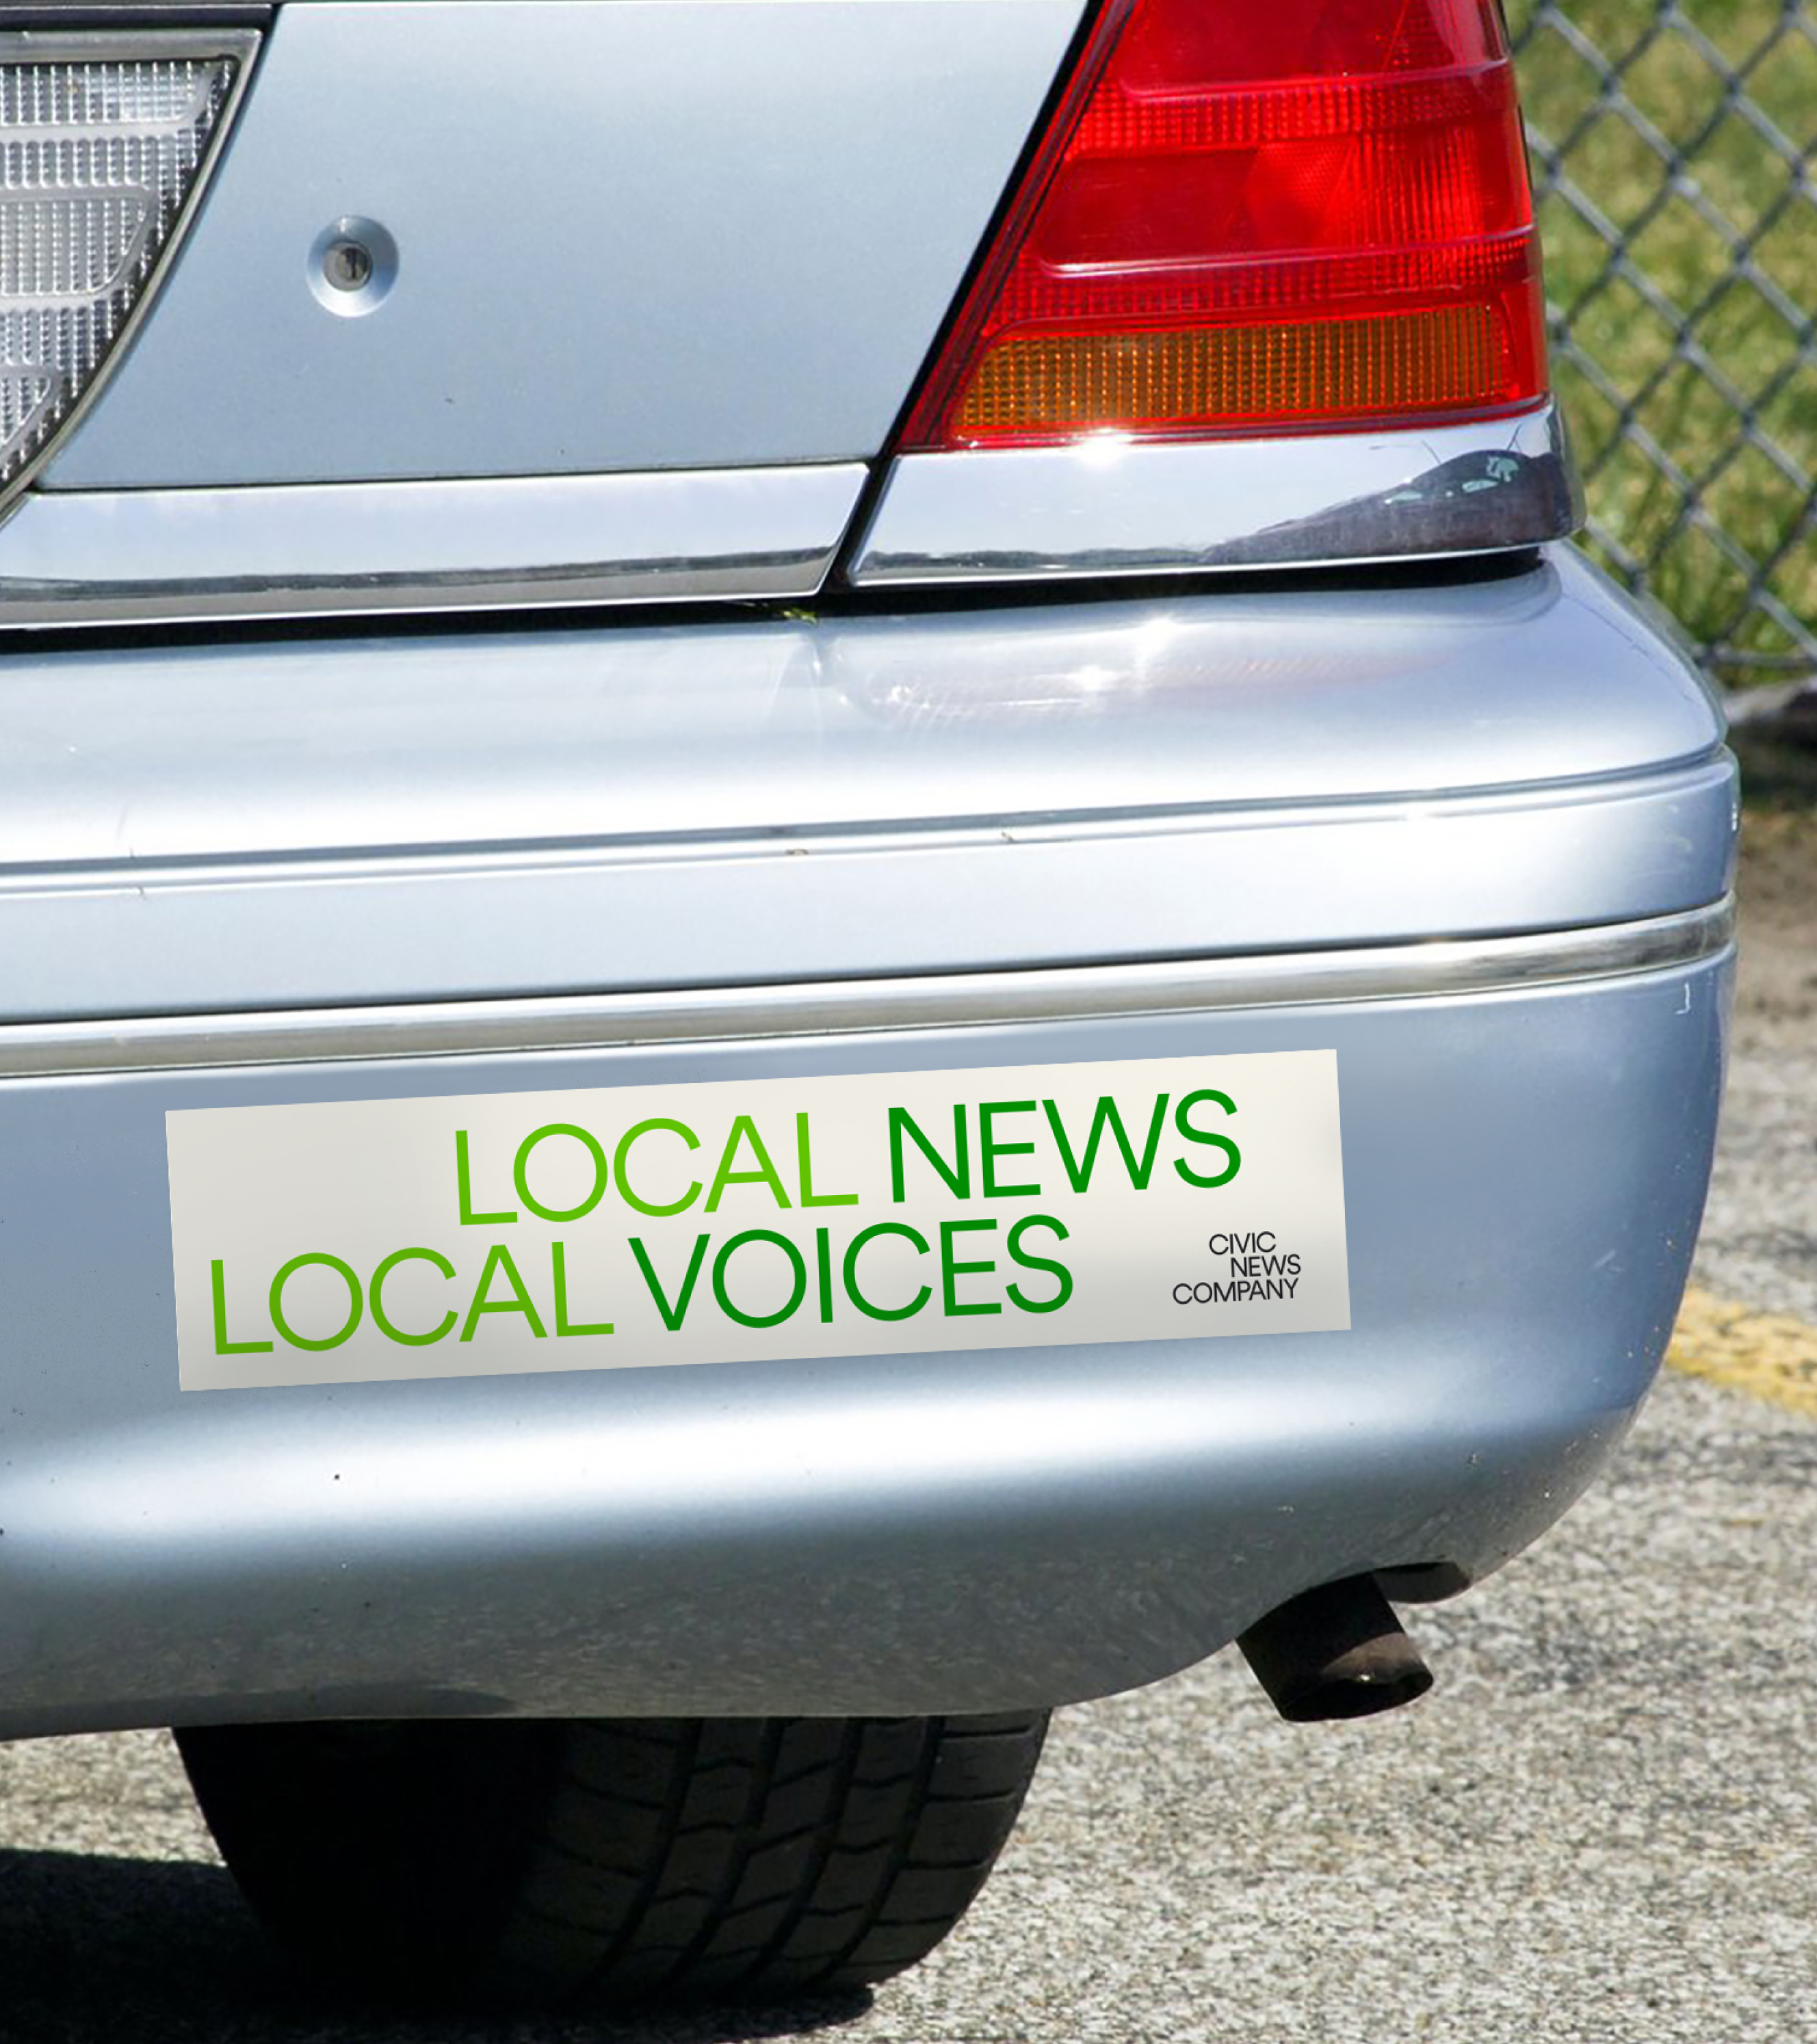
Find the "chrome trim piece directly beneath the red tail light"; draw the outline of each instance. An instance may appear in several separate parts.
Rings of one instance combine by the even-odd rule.
[[[848,580],[1339,566],[1537,546],[1582,497],[1553,403],[1431,431],[905,454]]]

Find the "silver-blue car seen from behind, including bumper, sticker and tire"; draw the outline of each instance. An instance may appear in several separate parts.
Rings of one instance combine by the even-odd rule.
[[[0,1731],[627,2001],[920,1958],[1057,1705],[1418,1694],[1731,961],[1494,0],[4,12]]]

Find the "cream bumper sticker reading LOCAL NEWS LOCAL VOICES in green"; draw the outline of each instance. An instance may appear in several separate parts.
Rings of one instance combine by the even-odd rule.
[[[1349,1327],[1335,1051],[166,1134],[184,1390]]]

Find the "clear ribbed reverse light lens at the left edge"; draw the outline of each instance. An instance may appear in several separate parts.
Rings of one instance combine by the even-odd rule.
[[[0,499],[69,419],[170,247],[251,39],[0,37]]]

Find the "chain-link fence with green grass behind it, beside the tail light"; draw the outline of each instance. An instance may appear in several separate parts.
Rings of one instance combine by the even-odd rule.
[[[1588,544],[1817,675],[1817,0],[1508,0]]]

